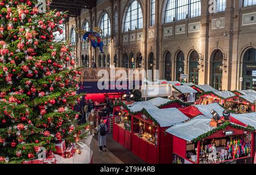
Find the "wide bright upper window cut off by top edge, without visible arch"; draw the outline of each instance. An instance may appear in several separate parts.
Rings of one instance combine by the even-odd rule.
[[[200,0],[168,0],[165,23],[201,16]]]

